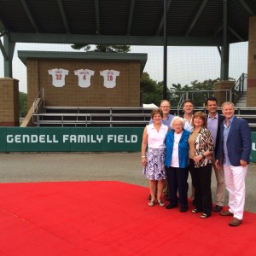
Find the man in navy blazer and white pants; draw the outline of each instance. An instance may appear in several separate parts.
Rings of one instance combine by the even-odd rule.
[[[224,164],[226,188],[229,191],[229,210],[220,212],[222,216],[233,216],[230,226],[239,226],[243,218],[245,204],[245,178],[249,163],[252,139],[247,120],[235,116],[232,102],[222,105],[224,122],[220,126],[216,166]]]

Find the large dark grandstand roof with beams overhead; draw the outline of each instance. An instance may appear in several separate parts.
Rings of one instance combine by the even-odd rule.
[[[224,35],[229,43],[247,41],[256,15],[256,0],[166,6],[168,45],[221,46]],[[11,43],[163,45],[163,32],[164,0],[0,0],[0,36]]]

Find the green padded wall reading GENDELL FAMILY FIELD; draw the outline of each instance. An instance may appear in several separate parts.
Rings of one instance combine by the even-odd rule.
[[[138,152],[142,127],[0,127],[0,152]],[[251,161],[256,162],[256,132]]]

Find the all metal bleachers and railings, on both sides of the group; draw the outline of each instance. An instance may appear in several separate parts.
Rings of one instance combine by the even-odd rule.
[[[247,78],[247,76],[242,74],[241,79],[239,79],[242,83],[237,83],[239,86],[236,85],[236,87],[239,87],[239,91],[243,92],[247,87],[244,78]],[[212,93],[212,91],[207,92]],[[195,91],[195,93],[198,94],[198,91]],[[177,107],[172,106],[172,114],[183,115],[183,99],[181,97],[180,104]],[[152,108],[142,107],[50,107],[45,105],[44,87],[42,87],[29,111],[30,116],[26,117],[25,125],[30,119],[32,125],[49,127],[144,127],[150,120],[151,111]],[[204,107],[195,107],[194,112],[196,111],[207,113],[207,109]],[[218,108],[218,113],[222,114],[221,108]],[[239,105],[236,107],[235,113],[240,118],[247,119],[251,131],[256,131],[255,107]]]

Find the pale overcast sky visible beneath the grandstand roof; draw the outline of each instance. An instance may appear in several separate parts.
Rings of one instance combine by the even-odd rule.
[[[70,44],[16,44],[13,59],[13,77],[20,80],[20,91],[26,92],[26,66],[17,56],[17,50],[74,51]],[[220,74],[220,56],[217,47],[168,47],[167,86],[190,84],[206,79],[217,79]],[[131,53],[147,53],[148,61],[144,72],[151,79],[163,80],[163,47],[131,46]],[[247,42],[230,44],[230,73],[239,79],[247,73]],[[3,55],[0,52],[0,77],[3,78]]]

